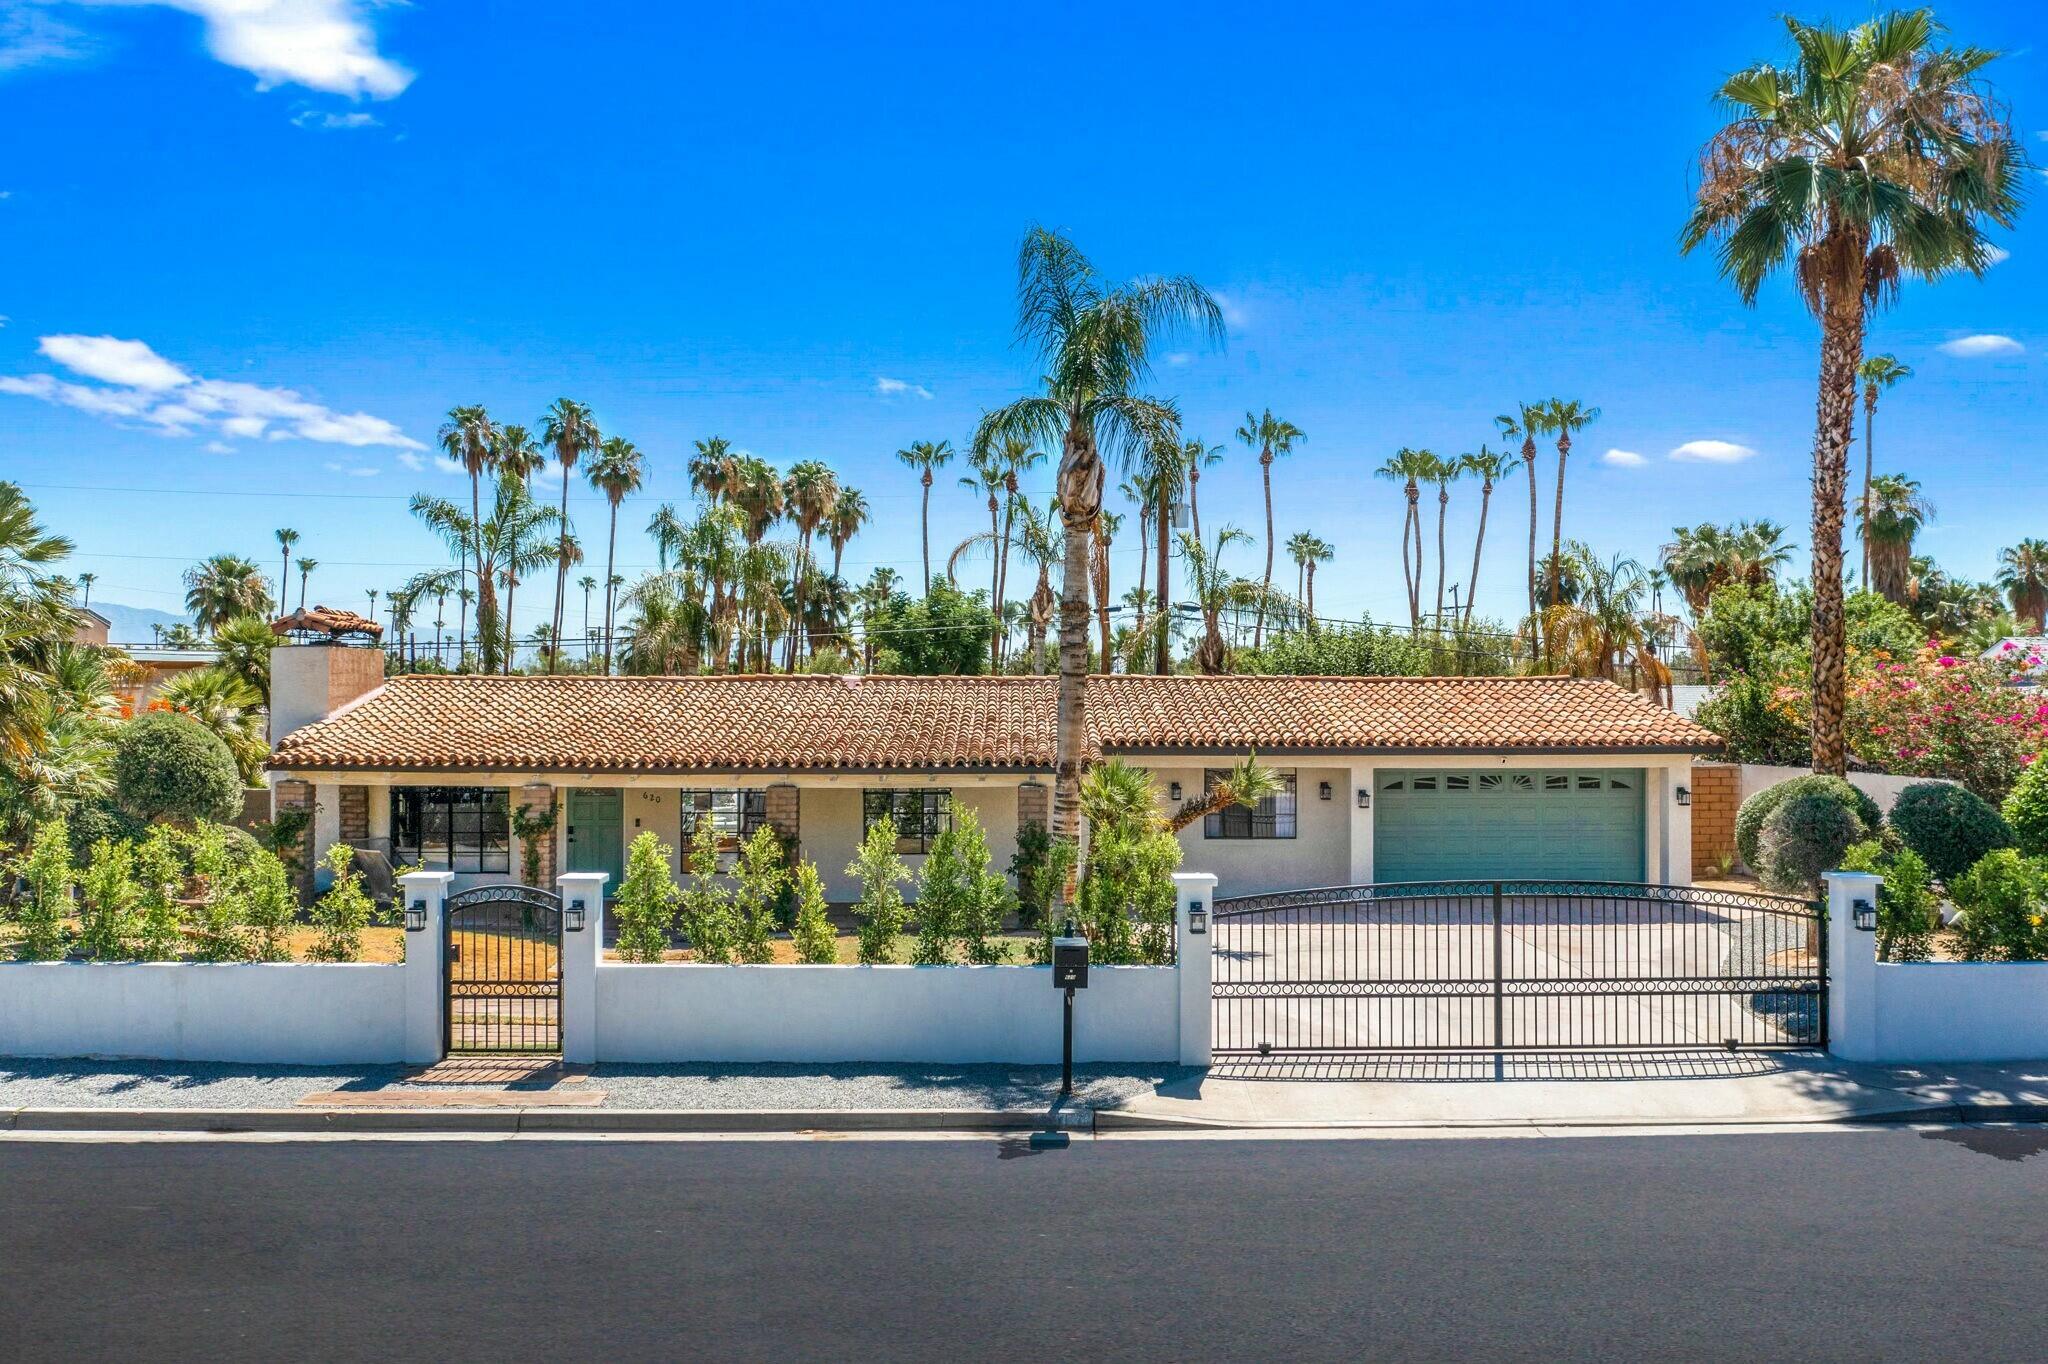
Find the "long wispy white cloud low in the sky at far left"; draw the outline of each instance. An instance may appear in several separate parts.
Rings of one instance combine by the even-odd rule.
[[[37,348],[86,379],[0,375],[0,393],[76,408],[111,422],[156,428],[166,436],[231,436],[238,440],[315,440],[322,444],[426,446],[395,424],[367,412],[334,412],[295,389],[233,379],[199,379],[139,340],[115,336],[43,336]]]

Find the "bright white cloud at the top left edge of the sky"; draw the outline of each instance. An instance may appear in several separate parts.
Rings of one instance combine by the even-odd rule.
[[[412,72],[377,53],[371,0],[80,0],[82,4],[166,4],[207,25],[207,51],[256,76],[256,88],[305,86],[387,100]]]

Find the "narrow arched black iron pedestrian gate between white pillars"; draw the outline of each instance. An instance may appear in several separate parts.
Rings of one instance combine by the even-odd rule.
[[[444,1047],[461,1053],[561,1051],[561,897],[485,885],[449,897]]]

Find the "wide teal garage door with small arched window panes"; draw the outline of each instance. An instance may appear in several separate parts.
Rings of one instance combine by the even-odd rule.
[[[1642,768],[1374,774],[1372,879],[1642,881]]]

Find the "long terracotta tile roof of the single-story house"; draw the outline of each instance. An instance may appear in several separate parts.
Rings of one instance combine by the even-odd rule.
[[[283,770],[1049,770],[1055,678],[391,678],[285,735]],[[1706,752],[1573,678],[1092,678],[1102,754]]]

